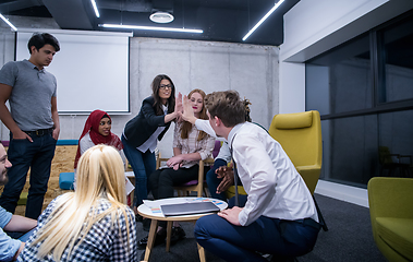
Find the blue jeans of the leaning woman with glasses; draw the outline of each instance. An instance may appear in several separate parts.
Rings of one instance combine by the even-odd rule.
[[[135,198],[134,205],[139,206],[143,200],[148,198],[148,177],[156,170],[155,153],[149,150],[142,153],[122,135],[123,152],[129,163],[131,163],[133,172],[135,174]]]

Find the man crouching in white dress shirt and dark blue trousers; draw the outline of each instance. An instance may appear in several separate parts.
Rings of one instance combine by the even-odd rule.
[[[209,122],[232,151],[247,193],[243,207],[199,218],[195,237],[226,261],[289,261],[309,252],[320,225],[304,180],[292,162],[260,127],[245,122],[244,105],[234,91],[206,97]],[[259,252],[259,253],[258,253]]]

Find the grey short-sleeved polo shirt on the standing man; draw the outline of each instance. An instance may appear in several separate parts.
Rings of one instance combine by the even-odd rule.
[[[0,83],[12,86],[9,98],[12,118],[23,131],[53,127],[51,97],[57,81],[45,69],[38,70],[28,60],[8,62],[0,70]]]

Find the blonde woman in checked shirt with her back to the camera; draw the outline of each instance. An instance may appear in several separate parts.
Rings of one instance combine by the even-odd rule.
[[[77,189],[56,198],[17,261],[136,261],[134,212],[125,204],[122,159],[108,145],[80,158]]]

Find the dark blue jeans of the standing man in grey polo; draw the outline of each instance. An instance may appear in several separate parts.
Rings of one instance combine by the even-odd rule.
[[[4,186],[0,205],[14,213],[31,168],[26,217],[37,219],[41,213],[57,141],[51,133],[41,136],[32,135],[32,140],[33,142],[27,139],[13,140],[13,134],[10,133],[8,158],[12,167],[8,170],[9,182]]]

